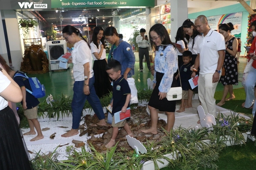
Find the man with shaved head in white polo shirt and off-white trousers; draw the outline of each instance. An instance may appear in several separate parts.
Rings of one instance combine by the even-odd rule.
[[[198,96],[205,113],[216,116],[214,93],[221,76],[221,68],[225,57],[225,41],[223,35],[211,29],[206,16],[200,15],[195,20],[196,29],[202,33],[197,42],[198,51],[192,77],[200,66],[198,78]]]

